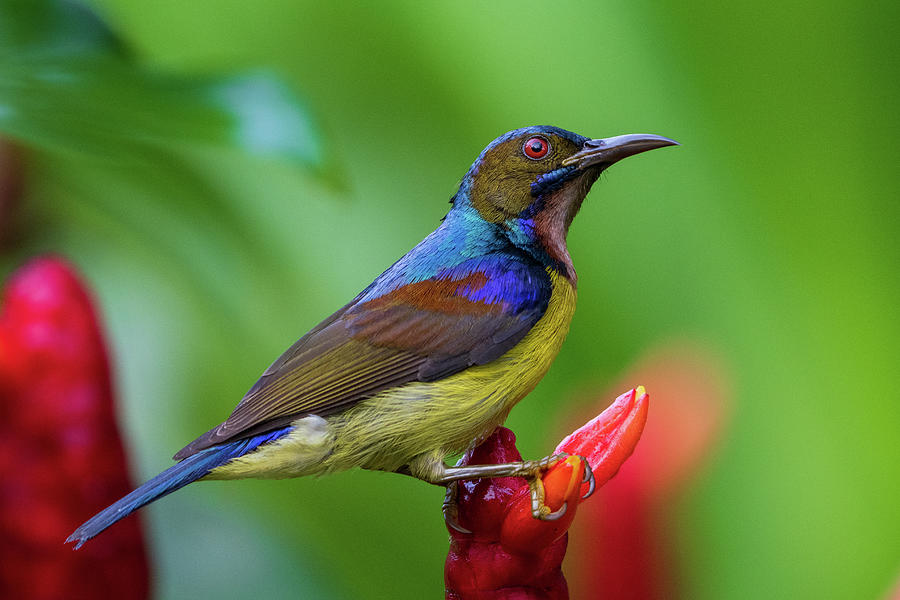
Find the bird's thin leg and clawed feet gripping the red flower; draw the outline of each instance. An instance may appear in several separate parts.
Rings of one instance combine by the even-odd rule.
[[[448,467],[444,464],[441,457],[423,454],[413,459],[403,472],[428,483],[447,486],[447,495],[443,504],[444,519],[448,525],[457,531],[468,533],[468,530],[456,522],[456,498],[459,493],[456,488],[458,481],[494,477],[524,477],[528,480],[528,487],[531,489],[532,516],[543,521],[554,521],[566,513],[566,505],[563,504],[562,508],[554,512],[550,510],[549,506],[544,504],[544,484],[541,481],[541,476],[567,456],[568,454],[562,453],[552,454],[540,460],[526,460],[499,465]]]

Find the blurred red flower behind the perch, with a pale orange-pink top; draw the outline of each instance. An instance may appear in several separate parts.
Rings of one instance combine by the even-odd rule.
[[[581,510],[566,572],[575,598],[684,598],[672,511],[725,426],[726,372],[681,343],[651,352],[625,379],[654,390],[653,414],[634,454]]]

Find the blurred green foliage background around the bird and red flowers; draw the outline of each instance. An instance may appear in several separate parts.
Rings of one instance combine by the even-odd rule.
[[[690,340],[731,405],[670,507],[684,597],[887,593],[896,3],[87,6],[109,29],[0,2],[0,134],[24,165],[0,275],[48,251],[85,273],[139,479],[431,231],[495,136],[658,133],[682,146],[616,165],[576,220],[578,313],[508,425],[542,456],[648,349]],[[190,486],[144,511],[156,595],[438,597],[441,498],[368,472]]]

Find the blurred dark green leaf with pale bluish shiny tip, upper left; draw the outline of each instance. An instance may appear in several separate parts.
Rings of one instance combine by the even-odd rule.
[[[138,67],[124,48],[79,4],[0,4],[0,131],[105,158],[187,143],[321,166],[312,119],[274,75],[174,77]]]

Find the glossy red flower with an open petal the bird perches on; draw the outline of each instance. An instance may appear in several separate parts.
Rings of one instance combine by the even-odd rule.
[[[566,531],[591,484],[584,482],[583,456],[602,485],[615,475],[634,450],[647,418],[649,398],[643,388],[623,394],[600,416],[566,437],[556,452],[568,458],[542,478],[551,510],[565,513],[542,521],[531,513],[531,493],[521,478],[461,481],[457,501],[459,525],[472,533],[450,531],[450,552],[444,567],[446,597],[452,600],[568,598],[562,560]],[[460,464],[491,464],[522,460],[515,436],[498,428]]]

